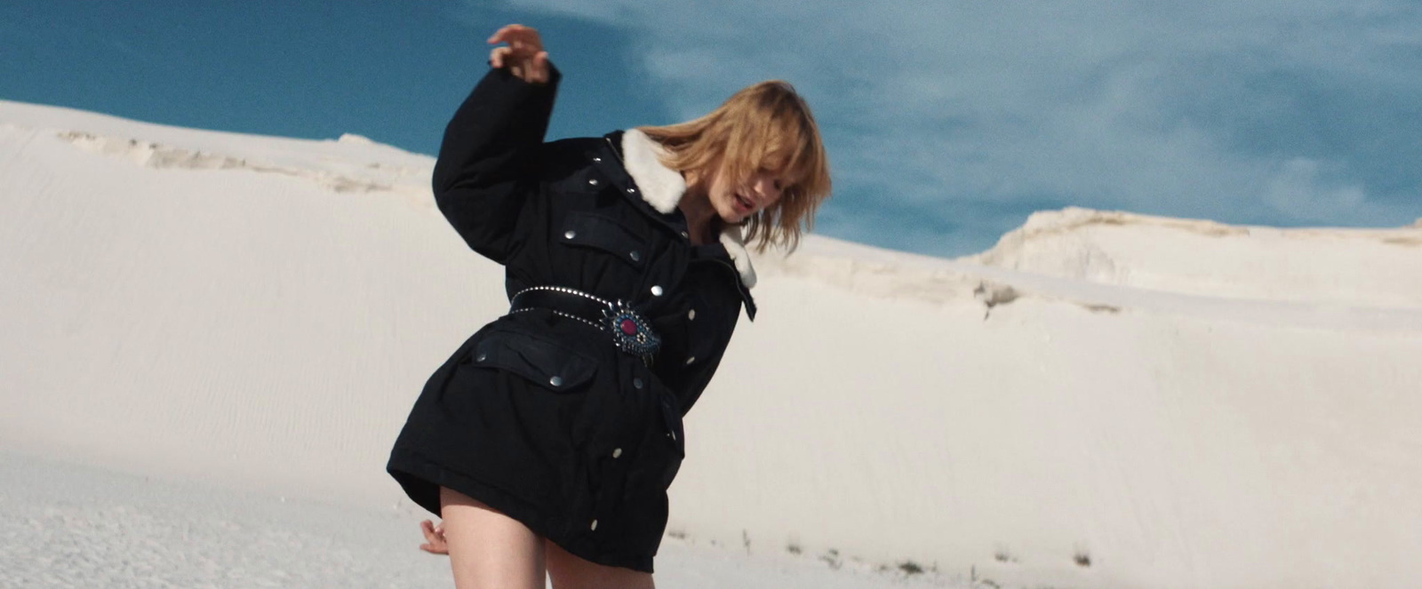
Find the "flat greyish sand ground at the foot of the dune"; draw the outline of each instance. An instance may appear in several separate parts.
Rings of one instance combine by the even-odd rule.
[[[0,586],[452,588],[395,511],[328,505],[0,452]],[[968,588],[931,572],[832,569],[667,539],[658,586]]]

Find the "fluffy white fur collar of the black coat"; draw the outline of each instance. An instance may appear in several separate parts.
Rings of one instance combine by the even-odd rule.
[[[667,215],[677,209],[681,195],[687,192],[687,181],[681,172],[661,164],[665,151],[647,134],[637,129],[623,132],[623,166],[627,175],[641,191],[641,199],[647,201],[653,209]],[[741,238],[738,225],[727,225],[721,230],[721,245],[735,262],[735,269],[741,273],[741,283],[747,289],[755,287],[755,267],[751,266],[751,255],[745,250],[745,240]]]

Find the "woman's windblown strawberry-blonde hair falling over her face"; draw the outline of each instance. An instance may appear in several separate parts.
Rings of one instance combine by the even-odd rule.
[[[764,81],[735,92],[705,117],[638,129],[667,149],[665,166],[702,179],[712,171],[734,182],[759,169],[786,172],[789,185],[781,199],[742,222],[745,240],[758,250],[771,245],[795,250],[801,235],[815,225],[815,211],[829,198],[829,158],[819,125],[788,83]]]

